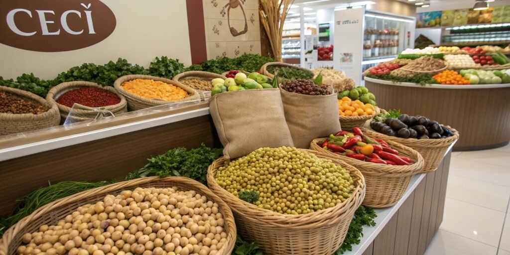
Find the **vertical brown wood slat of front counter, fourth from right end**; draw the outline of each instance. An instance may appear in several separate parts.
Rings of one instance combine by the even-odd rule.
[[[414,192],[398,209],[397,234],[395,238],[394,254],[406,254],[411,231],[411,218],[413,216]]]

